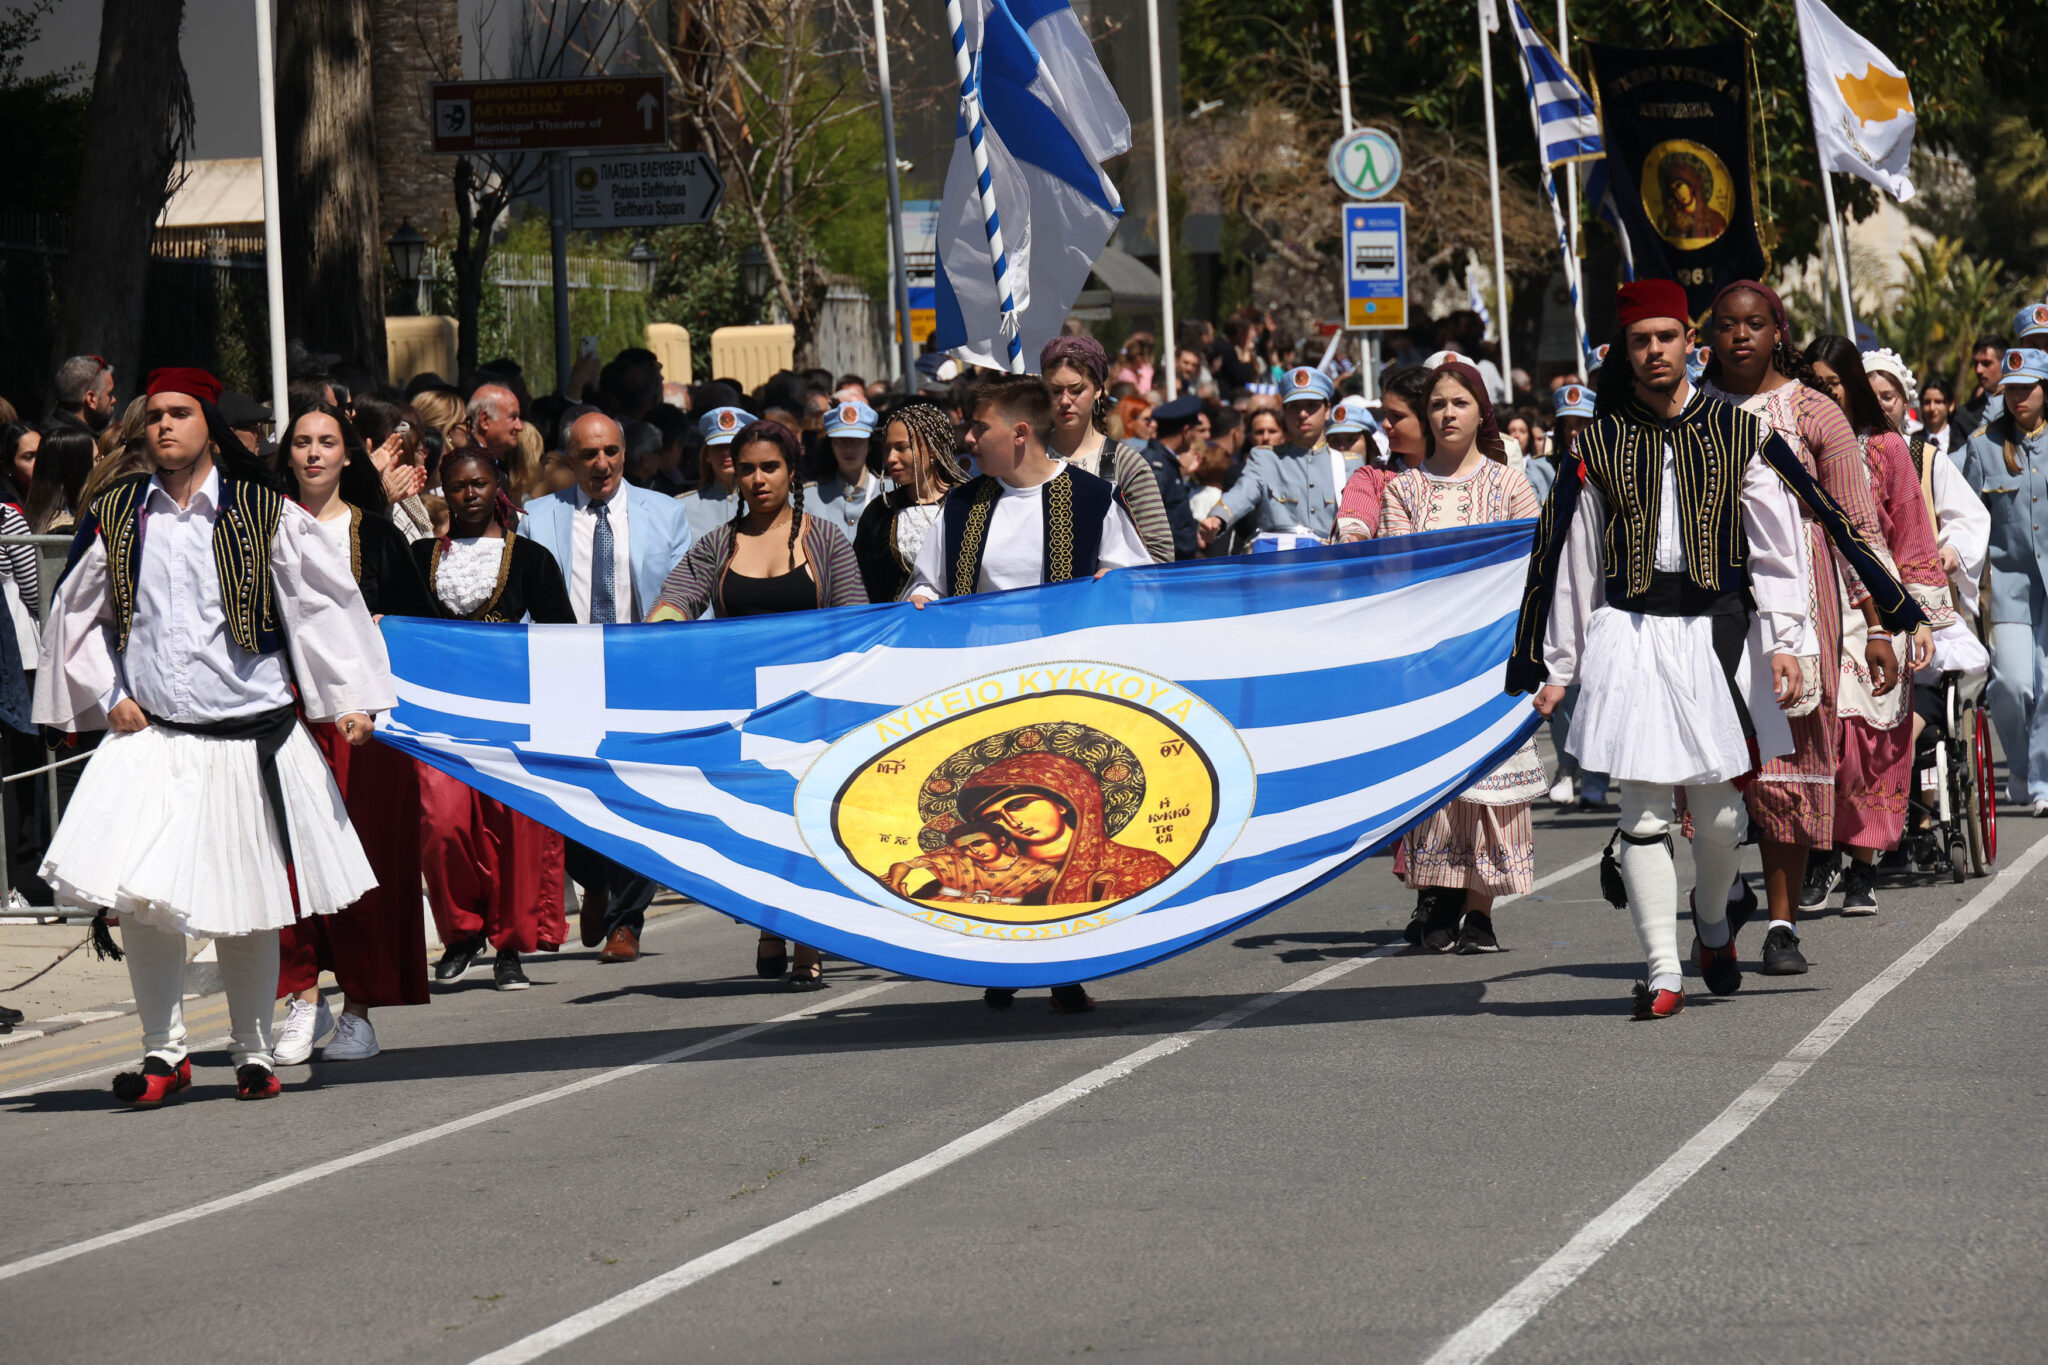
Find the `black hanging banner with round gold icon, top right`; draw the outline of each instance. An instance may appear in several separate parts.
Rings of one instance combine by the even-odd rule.
[[[1587,43],[1608,186],[1636,278],[1686,287],[1694,313],[1759,278],[1745,45],[1638,51]]]

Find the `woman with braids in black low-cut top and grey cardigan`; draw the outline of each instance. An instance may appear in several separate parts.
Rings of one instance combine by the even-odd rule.
[[[731,522],[698,538],[670,569],[647,620],[696,620],[707,610],[717,616],[780,616],[866,606],[854,548],[838,526],[803,510],[801,460],[803,444],[780,422],[764,417],[739,430],[733,438],[739,508]],[[786,970],[791,990],[825,984],[817,950],[797,943],[793,964],[778,933],[762,933],[754,970],[768,980]]]

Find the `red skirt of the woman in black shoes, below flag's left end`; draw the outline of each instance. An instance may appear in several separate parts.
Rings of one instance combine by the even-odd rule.
[[[420,864],[442,943],[555,952],[569,937],[561,835],[451,778],[420,772]]]

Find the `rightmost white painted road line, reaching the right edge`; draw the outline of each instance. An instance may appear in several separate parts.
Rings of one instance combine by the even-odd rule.
[[[1550,1300],[1569,1289],[1579,1275],[1585,1275],[1638,1222],[1655,1214],[1665,1199],[1677,1193],[1706,1162],[1714,1160],[1724,1146],[1743,1136],[1878,1001],[1898,988],[1913,972],[1927,966],[1956,935],[1982,919],[1991,907],[2019,886],[2040,866],[2044,855],[2048,855],[2048,839],[2038,839],[1993,878],[1991,886],[1976,892],[1962,909],[1935,925],[1927,937],[1864,982],[1862,990],[1843,1001],[1835,1013],[1806,1033],[1782,1062],[1763,1072],[1761,1081],[1737,1095],[1735,1103],[1722,1109],[1712,1124],[1694,1134],[1686,1146],[1642,1177],[1634,1189],[1610,1203],[1593,1222],[1579,1228],[1577,1236],[1565,1242],[1554,1257],[1530,1271],[1520,1285],[1503,1293],[1487,1312],[1473,1318],[1456,1336],[1438,1347],[1425,1365],[1479,1365],[1479,1361],[1485,1361],[1507,1345],[1507,1338],[1540,1314]]]

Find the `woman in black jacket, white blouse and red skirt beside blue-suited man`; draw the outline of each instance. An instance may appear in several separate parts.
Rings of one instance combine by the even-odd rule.
[[[489,452],[463,446],[444,454],[440,493],[449,499],[449,534],[412,542],[440,616],[575,624],[555,557],[512,534],[518,510]],[[569,937],[561,835],[426,763],[420,765],[420,864],[446,945],[434,964],[440,984],[459,980],[489,945],[498,950],[494,984],[524,990],[532,982],[520,956],[555,952]]]

